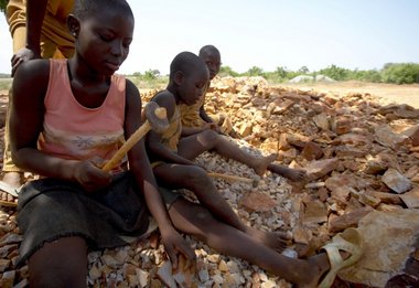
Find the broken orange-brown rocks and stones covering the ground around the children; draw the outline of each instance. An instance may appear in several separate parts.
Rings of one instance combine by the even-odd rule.
[[[141,90],[143,102],[155,92]],[[418,281],[419,110],[384,106],[365,93],[332,95],[270,86],[261,77],[215,78],[206,109],[229,116],[240,137],[234,141],[243,149],[277,152],[279,163],[308,172],[298,183],[267,172],[257,188],[214,180],[244,222],[292,233],[284,252],[290,257],[309,257],[336,233],[358,227],[367,241],[366,256],[336,282],[385,287],[395,279]],[[248,167],[215,153],[196,161],[208,171],[254,175]],[[194,200],[187,191],[185,196]],[[21,242],[14,218],[13,209],[0,209],[1,287],[28,286],[28,267],[14,268]],[[88,286],[291,287],[254,265],[185,238],[197,255],[193,274],[171,273],[154,233],[130,246],[92,252]]]

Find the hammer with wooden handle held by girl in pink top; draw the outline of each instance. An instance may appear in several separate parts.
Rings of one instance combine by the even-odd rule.
[[[157,132],[163,132],[169,127],[165,108],[159,107],[155,102],[150,102],[144,107],[146,121],[138,128],[128,140],[118,149],[112,158],[101,168],[104,171],[110,171],[118,166],[125,154],[151,129]]]

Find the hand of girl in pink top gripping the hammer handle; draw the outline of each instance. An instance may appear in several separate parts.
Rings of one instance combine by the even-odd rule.
[[[95,157],[76,163],[74,178],[87,191],[94,192],[110,184],[111,174],[103,171],[104,160]]]

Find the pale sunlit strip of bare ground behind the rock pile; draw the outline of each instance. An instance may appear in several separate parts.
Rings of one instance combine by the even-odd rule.
[[[318,90],[324,93],[333,93],[344,96],[347,93],[369,93],[378,96],[382,104],[408,104],[415,108],[419,108],[419,84],[411,85],[394,85],[380,83],[362,83],[362,82],[337,82],[337,83],[301,83],[301,84],[283,84],[280,86]]]

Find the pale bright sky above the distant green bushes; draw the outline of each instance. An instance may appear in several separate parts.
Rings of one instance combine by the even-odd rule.
[[[332,64],[380,70],[419,63],[418,0],[128,0],[136,18],[130,54],[118,73],[169,73],[182,51],[206,44],[223,65],[310,72]],[[0,73],[10,73],[11,38],[0,15]]]

